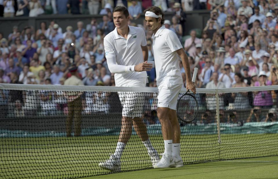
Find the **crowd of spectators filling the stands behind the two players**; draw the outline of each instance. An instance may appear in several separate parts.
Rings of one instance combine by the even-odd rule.
[[[115,28],[111,13],[115,5],[127,6],[130,25],[145,30],[149,61],[154,60],[151,51],[152,32],[147,30],[145,22],[135,24],[132,20],[137,19],[142,15],[142,11],[151,5],[173,13],[173,17],[166,19],[164,25],[173,30],[184,45],[191,71],[193,72],[194,67],[199,68],[195,83],[197,88],[278,84],[278,2],[275,0],[209,0],[208,3],[203,0],[59,0],[59,3],[55,0],[0,0],[0,15],[5,17],[19,14],[37,16],[43,13],[103,15],[103,21],[100,23],[94,18],[89,24],[79,21],[75,31],[72,26],[62,29],[52,21],[50,24],[42,22],[40,29],[18,29],[14,26],[8,37],[3,37],[0,33],[0,82],[63,85],[70,77],[69,67],[75,64],[85,85],[115,86],[114,74],[108,69],[103,48],[103,38]],[[184,12],[207,9],[208,6],[211,13],[206,27],[184,34]],[[21,10],[23,14],[19,13]],[[180,68],[185,87],[186,76],[181,62]],[[155,69],[149,71],[148,76],[147,85],[156,87]],[[105,95],[107,94],[96,96],[103,98],[102,105],[107,110],[109,105]],[[244,96],[240,93],[233,98],[241,99],[242,95]],[[272,99],[276,99],[276,96],[270,93],[265,95],[269,97],[262,99],[261,94],[254,97],[257,99],[257,105],[273,104]],[[154,109],[155,100],[149,101]],[[241,106],[249,108],[249,104],[250,100],[246,101],[246,105],[241,103]],[[207,104],[213,110],[215,104],[211,105]]]

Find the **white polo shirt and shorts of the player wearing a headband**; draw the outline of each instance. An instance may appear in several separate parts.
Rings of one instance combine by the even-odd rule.
[[[153,34],[153,55],[156,65],[158,86],[158,107],[176,110],[178,95],[182,88],[182,75],[179,67],[178,53],[182,48],[175,32],[163,25]]]

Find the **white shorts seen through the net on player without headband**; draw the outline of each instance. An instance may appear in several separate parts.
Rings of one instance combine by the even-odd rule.
[[[147,78],[138,78],[136,80],[126,80],[122,87],[146,87]],[[142,117],[145,95],[143,92],[118,92],[122,104],[122,116]]]

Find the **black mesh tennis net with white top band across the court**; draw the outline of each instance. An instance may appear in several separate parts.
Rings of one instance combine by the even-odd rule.
[[[197,118],[180,123],[184,164],[278,155],[277,93],[278,86],[197,89]],[[0,178],[109,174],[98,163],[115,152],[122,107],[141,115],[130,114],[120,99],[139,103],[153,147],[162,153],[157,88],[0,84]],[[120,171],[152,166],[136,131]]]

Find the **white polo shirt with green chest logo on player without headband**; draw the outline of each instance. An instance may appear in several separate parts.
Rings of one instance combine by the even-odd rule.
[[[129,27],[127,39],[120,36],[117,28],[104,37],[105,57],[115,58],[118,65],[137,65],[143,62],[142,46],[147,45],[146,35],[140,27]],[[116,86],[122,86],[126,80],[135,80],[142,77],[147,77],[147,72],[127,72],[115,74]]]

